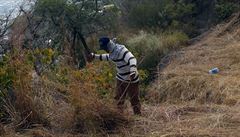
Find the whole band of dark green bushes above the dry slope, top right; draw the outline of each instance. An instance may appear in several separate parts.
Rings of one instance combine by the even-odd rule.
[[[124,1],[127,24],[153,31],[181,30],[195,37],[240,9],[237,0]]]

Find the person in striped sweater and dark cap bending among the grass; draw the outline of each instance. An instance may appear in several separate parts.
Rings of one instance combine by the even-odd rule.
[[[120,112],[124,111],[126,96],[130,97],[130,102],[135,115],[141,115],[141,104],[139,99],[139,74],[137,70],[137,60],[134,55],[121,44],[115,43],[108,37],[99,39],[101,50],[107,54],[91,53],[91,59],[100,61],[112,61],[117,69],[116,96],[117,107]]]

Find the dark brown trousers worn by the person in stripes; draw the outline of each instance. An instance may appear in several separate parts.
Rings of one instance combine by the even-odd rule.
[[[117,90],[115,100],[117,101],[118,109],[123,112],[124,102],[126,96],[129,96],[130,102],[133,108],[133,112],[136,115],[141,114],[141,104],[139,100],[139,83],[125,83],[117,80]]]

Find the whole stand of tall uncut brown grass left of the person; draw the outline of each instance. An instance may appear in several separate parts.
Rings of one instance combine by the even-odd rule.
[[[6,125],[7,131],[0,126],[1,134],[6,132],[4,136],[104,136],[128,124],[128,118],[113,102],[101,100],[92,73],[68,68],[68,74],[63,75],[68,82],[63,84],[52,78],[56,75],[53,72],[34,75],[24,59],[12,64],[18,68],[14,78],[16,98],[5,104],[11,123]],[[95,70],[90,65],[91,69]]]

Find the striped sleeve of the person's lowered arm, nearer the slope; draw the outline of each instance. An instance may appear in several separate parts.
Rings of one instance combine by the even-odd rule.
[[[130,72],[136,72],[137,71],[137,59],[133,56],[131,52],[127,52],[124,61],[129,64],[130,66]]]

